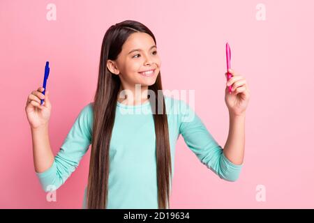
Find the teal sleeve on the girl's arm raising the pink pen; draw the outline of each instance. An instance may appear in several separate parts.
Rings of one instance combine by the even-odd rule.
[[[179,108],[179,134],[197,158],[220,178],[235,181],[243,164],[234,164],[225,157],[223,148],[212,137],[194,110],[183,100]]]

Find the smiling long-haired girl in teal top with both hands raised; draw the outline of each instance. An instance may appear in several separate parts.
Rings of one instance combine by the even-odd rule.
[[[111,26],[103,38],[94,102],[81,110],[55,157],[48,136],[50,93],[38,88],[28,96],[34,167],[43,190],[63,185],[91,145],[84,208],[170,208],[180,134],[202,164],[224,180],[237,180],[244,159],[246,79],[230,70],[230,129],[222,148],[192,107],[163,95],[160,66],[147,26],[132,20]]]

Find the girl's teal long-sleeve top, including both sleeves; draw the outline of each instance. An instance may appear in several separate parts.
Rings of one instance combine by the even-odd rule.
[[[172,178],[174,149],[180,134],[197,158],[220,178],[239,178],[243,164],[225,157],[223,148],[212,137],[194,109],[184,100],[165,96],[170,138]],[[84,106],[54,157],[52,166],[37,173],[45,192],[58,189],[78,167],[91,144],[93,127],[92,102]],[[156,169],[156,135],[149,102],[124,105],[117,102],[110,141],[110,173],[107,208],[158,208]],[[171,182],[170,182],[171,188]],[[85,187],[83,207],[87,207]]]

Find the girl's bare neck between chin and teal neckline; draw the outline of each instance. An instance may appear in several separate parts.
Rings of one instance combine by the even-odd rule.
[[[124,105],[142,105],[148,99],[148,86],[134,85],[132,87],[124,87],[121,84],[118,93],[118,102]]]

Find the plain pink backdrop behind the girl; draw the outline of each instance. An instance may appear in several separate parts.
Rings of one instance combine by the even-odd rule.
[[[91,3],[92,2],[92,3]],[[57,20],[46,20],[48,3]],[[266,20],[257,21],[257,3]],[[0,208],[81,208],[90,151],[46,201],[33,169],[27,96],[50,61],[54,154],[96,91],[100,46],[110,25],[137,20],[156,35],[164,89],[195,90],[195,110],[221,146],[225,42],[248,81],[246,155],[237,182],[220,180],[176,148],[171,208],[314,208],[313,15],[308,1],[0,1]],[[266,187],[257,201],[256,186]]]

